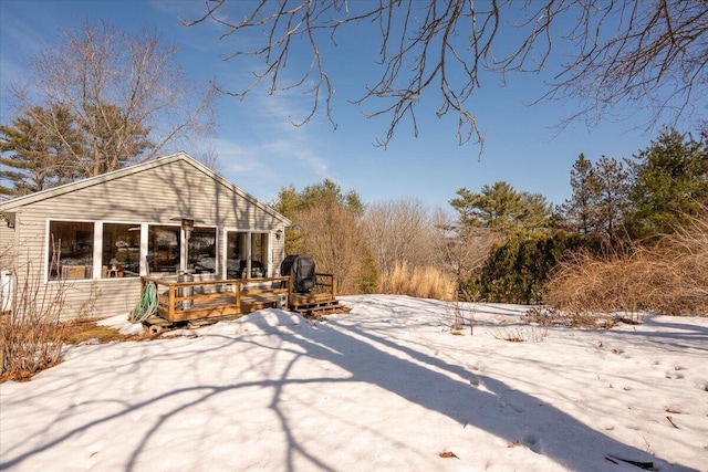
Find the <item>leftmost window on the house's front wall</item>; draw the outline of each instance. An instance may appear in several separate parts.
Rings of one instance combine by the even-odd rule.
[[[50,280],[81,280],[93,276],[94,223],[50,221],[48,266]]]

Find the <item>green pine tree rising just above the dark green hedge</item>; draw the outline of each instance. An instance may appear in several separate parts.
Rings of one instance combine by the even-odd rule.
[[[480,193],[462,188],[450,204],[466,227],[485,228],[501,234],[546,228],[551,206],[540,193],[517,192],[511,185],[499,181],[485,185]]]

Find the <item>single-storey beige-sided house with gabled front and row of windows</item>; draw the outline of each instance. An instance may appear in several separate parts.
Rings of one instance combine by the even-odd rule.
[[[290,224],[178,153],[0,202],[0,270],[62,290],[63,318],[113,316],[138,302],[140,276],[279,275]]]

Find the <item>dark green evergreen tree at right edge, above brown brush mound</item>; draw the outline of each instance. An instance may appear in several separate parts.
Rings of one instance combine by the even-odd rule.
[[[708,206],[708,145],[665,129],[633,162],[636,235],[673,233]]]

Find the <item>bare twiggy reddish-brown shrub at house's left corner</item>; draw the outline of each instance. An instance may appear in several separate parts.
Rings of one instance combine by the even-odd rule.
[[[58,261],[55,254],[52,264]],[[11,312],[0,318],[0,380],[27,380],[60,361],[65,286],[43,284],[40,272],[29,258],[12,271],[20,284],[12,294]]]

